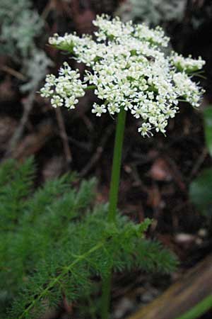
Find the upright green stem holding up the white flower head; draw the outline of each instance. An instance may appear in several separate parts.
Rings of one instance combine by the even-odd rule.
[[[109,208],[108,208],[108,214],[107,214],[107,220],[110,223],[115,223],[116,221],[125,121],[126,121],[126,111],[124,111],[124,108],[121,108],[117,117],[116,134],[115,134],[115,140],[114,140],[114,153],[113,153],[113,159],[112,159]],[[102,279],[102,308],[101,308],[102,319],[109,318],[111,279],[112,279],[112,269],[110,274],[108,274],[105,279]]]

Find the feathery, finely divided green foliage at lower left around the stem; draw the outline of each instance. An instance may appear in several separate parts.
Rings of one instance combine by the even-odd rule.
[[[107,204],[93,208],[93,179],[76,190],[75,174],[66,174],[33,191],[34,175],[31,158],[0,167],[1,318],[40,318],[62,296],[88,298],[92,279],[112,268],[175,268],[170,252],[144,238],[150,220],[135,224],[119,213],[111,224]]]

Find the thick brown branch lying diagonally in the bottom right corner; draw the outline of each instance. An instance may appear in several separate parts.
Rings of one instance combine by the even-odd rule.
[[[127,319],[175,319],[211,294],[212,255],[189,269],[181,279],[152,303]]]

